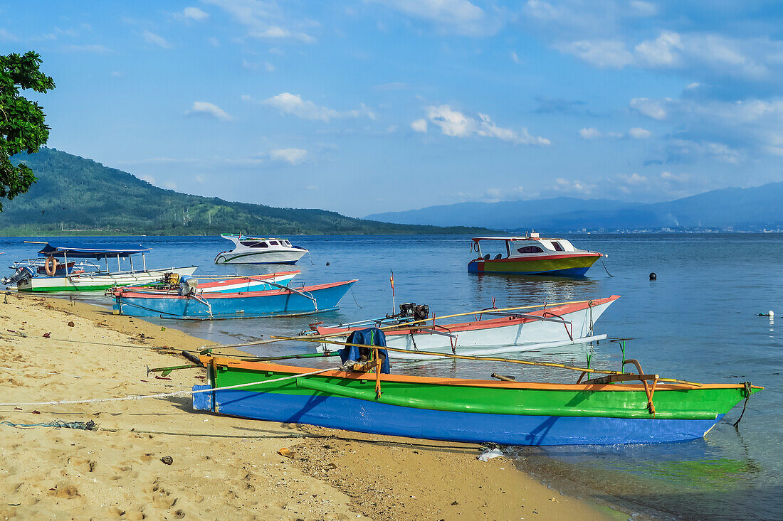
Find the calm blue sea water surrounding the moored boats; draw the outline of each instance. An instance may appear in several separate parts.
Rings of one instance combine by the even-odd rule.
[[[581,248],[608,253],[582,279],[468,275],[467,236],[309,236],[294,244],[312,252],[295,280],[306,283],[358,278],[341,310],[316,317],[215,322],[159,321],[195,336],[240,343],[308,329],[310,322],[348,322],[391,311],[390,271],[397,303],[429,304],[439,315],[489,307],[540,304],[622,295],[597,322],[597,331],[632,337],[626,358],[645,372],[705,383],[766,386],[754,395],[738,429],[731,411],[704,440],[679,444],[612,447],[525,447],[518,464],[578,494],[625,501],[660,516],[683,519],[783,519],[783,275],[779,234],[576,235]],[[6,264],[29,257],[34,245],[0,239]],[[45,239],[38,239],[45,240]],[[56,242],[58,239],[52,239]],[[59,239],[60,242],[77,239]],[[78,239],[152,247],[150,268],[201,266],[197,275],[229,275],[234,267],[212,264],[230,243],[219,237],[122,237]],[[327,265],[328,263],[328,265]],[[239,268],[251,275],[274,268]],[[277,267],[277,271],[288,269]],[[656,281],[648,275],[655,271]],[[100,296],[83,296],[100,303]],[[105,303],[105,300],[103,301]],[[776,328],[757,314],[778,313]],[[257,354],[305,352],[280,343],[254,347]],[[525,354],[525,358],[618,369],[617,343]],[[333,363],[333,362],[332,362]],[[310,360],[309,365],[330,365]],[[139,368],[141,371],[142,368]],[[393,371],[419,375],[489,378],[492,372],[518,379],[572,382],[575,373],[474,361],[398,363]]]

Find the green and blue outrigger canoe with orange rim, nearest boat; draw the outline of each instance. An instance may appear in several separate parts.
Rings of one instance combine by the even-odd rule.
[[[363,433],[509,445],[693,440],[762,389],[656,380],[563,384],[408,375],[377,379],[374,373],[340,369],[312,375],[312,368],[267,362],[211,356],[201,361],[209,383],[194,386],[201,391],[193,394],[196,409]]]

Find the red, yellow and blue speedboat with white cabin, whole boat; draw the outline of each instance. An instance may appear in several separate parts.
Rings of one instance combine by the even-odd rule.
[[[500,253],[484,253],[482,241],[504,243]],[[484,250],[489,250],[486,244]],[[543,239],[536,232],[525,237],[474,237],[478,257],[467,264],[468,273],[511,273],[517,275],[567,275],[581,277],[601,253],[577,250],[565,239]]]

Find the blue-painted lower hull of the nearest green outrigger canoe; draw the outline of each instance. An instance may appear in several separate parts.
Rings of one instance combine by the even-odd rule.
[[[193,390],[209,389],[194,386]],[[702,438],[716,419],[621,419],[501,415],[400,407],[350,397],[220,390],[193,408],[241,418],[362,433],[508,445],[653,444]]]

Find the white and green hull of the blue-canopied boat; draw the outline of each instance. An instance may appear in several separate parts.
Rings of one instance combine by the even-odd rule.
[[[151,284],[163,278],[166,273],[193,275],[198,266],[186,268],[168,268],[161,270],[136,271],[134,273],[117,273],[103,275],[80,274],[72,277],[33,277],[17,284],[19,291],[98,291],[114,286],[142,286]]]

